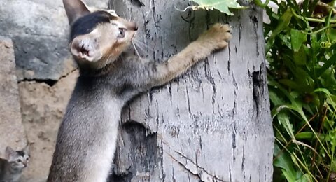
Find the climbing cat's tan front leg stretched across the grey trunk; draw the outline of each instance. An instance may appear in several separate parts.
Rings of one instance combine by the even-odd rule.
[[[167,62],[148,63],[148,76],[146,76],[148,78],[143,79],[146,82],[142,86],[148,90],[151,87],[165,85],[185,73],[200,60],[209,56],[214,50],[227,47],[231,38],[230,31],[229,25],[217,23],[201,34],[196,41],[190,43],[179,54],[168,59]]]

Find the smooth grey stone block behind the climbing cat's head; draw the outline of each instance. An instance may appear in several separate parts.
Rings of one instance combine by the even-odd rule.
[[[69,25],[62,1],[2,0],[0,15],[0,35],[15,45],[18,80],[58,80],[72,70],[66,67]]]

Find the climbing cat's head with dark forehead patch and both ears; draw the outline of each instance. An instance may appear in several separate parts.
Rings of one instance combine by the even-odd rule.
[[[63,0],[71,26],[69,48],[78,66],[102,68],[130,46],[137,24],[114,10],[92,10],[80,0]]]

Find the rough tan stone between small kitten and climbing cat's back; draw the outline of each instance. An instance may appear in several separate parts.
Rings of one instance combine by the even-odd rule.
[[[59,123],[76,83],[78,71],[69,73],[50,87],[45,83],[19,83],[22,123],[31,142],[31,160],[26,181],[43,181],[49,172]]]

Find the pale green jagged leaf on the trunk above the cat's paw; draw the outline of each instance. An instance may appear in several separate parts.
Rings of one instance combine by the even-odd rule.
[[[227,15],[233,15],[229,8],[246,8],[240,6],[237,0],[190,0],[198,4],[198,6],[191,6],[193,10],[219,10]]]

